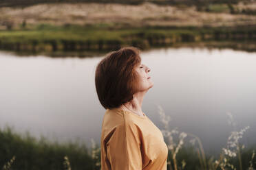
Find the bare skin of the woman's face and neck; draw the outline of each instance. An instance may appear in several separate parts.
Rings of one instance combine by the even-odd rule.
[[[122,104],[119,108],[129,112],[134,112],[135,114],[144,117],[142,112],[142,101],[149,88],[153,87],[151,78],[148,79],[150,76],[149,71],[151,71],[151,69],[149,69],[149,67],[145,64],[139,64],[139,66],[136,67],[136,71],[140,80],[138,92],[134,94],[134,99],[127,102],[126,104]]]

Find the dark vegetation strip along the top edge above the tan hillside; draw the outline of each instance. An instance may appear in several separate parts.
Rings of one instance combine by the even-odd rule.
[[[236,4],[255,3],[253,0],[1,0],[0,7],[29,6],[39,3],[120,3],[138,5],[150,2],[158,5],[178,5],[180,7],[195,5],[198,11],[231,12],[232,14],[256,14],[255,8],[237,8]]]

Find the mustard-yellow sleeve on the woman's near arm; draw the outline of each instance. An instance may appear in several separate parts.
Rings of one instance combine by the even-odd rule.
[[[118,125],[107,145],[112,170],[141,170],[140,130],[133,122]]]

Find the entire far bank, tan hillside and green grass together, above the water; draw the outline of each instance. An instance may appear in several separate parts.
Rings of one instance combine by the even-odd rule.
[[[256,15],[243,13],[244,9],[256,10],[255,3],[233,4],[232,8],[211,4],[208,8],[149,2],[0,7],[0,50],[19,56],[85,57],[122,46],[146,50],[203,42],[256,51]]]

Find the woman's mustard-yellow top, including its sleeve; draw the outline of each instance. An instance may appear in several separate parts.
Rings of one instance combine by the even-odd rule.
[[[162,132],[144,117],[118,108],[103,117],[101,170],[167,170],[168,147]]]

